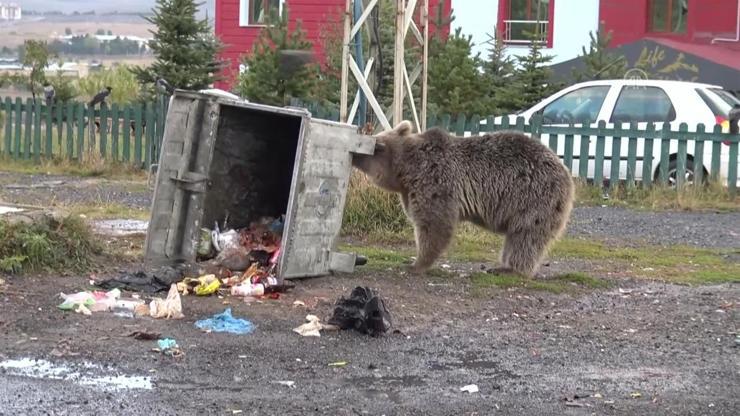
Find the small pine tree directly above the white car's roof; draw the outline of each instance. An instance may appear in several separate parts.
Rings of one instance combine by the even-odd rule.
[[[609,52],[612,32],[604,33],[602,25],[596,34],[589,32],[588,36],[591,38],[588,51],[585,46],[582,47],[582,54],[579,56],[583,59],[585,68],[573,70],[576,82],[622,78],[627,71],[627,62],[624,56]]]

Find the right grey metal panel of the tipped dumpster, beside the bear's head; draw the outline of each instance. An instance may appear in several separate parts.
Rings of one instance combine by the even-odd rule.
[[[282,278],[320,276],[332,269],[356,150],[354,128],[306,120],[294,166],[280,260]]]

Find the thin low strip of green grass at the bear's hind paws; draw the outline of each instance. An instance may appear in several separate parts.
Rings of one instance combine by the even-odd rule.
[[[491,287],[499,289],[523,288],[550,293],[575,293],[585,289],[599,289],[609,286],[609,282],[591,277],[585,273],[567,273],[552,278],[526,279],[512,274],[494,275],[489,273],[473,273],[471,275],[473,287],[482,290]]]

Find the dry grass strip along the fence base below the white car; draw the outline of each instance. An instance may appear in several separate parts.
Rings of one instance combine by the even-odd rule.
[[[719,181],[711,181],[704,187],[692,186],[679,190],[664,185],[655,185],[649,189],[620,185],[605,191],[583,181],[576,183],[576,201],[580,205],[607,205],[652,211],[740,210],[740,198],[731,197],[727,188]],[[608,197],[605,198],[605,195]]]

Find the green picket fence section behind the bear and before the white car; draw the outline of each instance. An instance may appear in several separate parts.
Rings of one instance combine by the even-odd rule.
[[[314,117],[338,121],[337,111],[314,103],[294,100],[291,105],[308,109]],[[650,187],[653,183],[683,186],[688,181],[716,180],[731,196],[737,193],[738,142],[740,135],[723,133],[722,127],[686,123],[677,128],[664,124],[632,123],[629,126],[583,123],[570,126],[543,125],[541,118],[530,123],[508,117],[498,123],[494,116],[480,117],[431,114],[427,128],[442,127],[458,136],[502,130],[524,132],[547,144],[571,170],[586,182],[611,187]],[[687,173],[689,174],[687,176]]]

